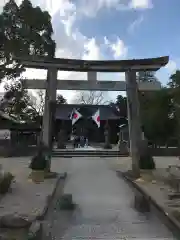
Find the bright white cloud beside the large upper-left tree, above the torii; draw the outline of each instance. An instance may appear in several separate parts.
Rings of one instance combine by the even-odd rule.
[[[51,13],[54,29],[53,37],[57,44],[56,57],[100,60],[105,59],[103,54],[104,48],[111,50],[112,58],[117,59],[126,56],[127,47],[118,37],[115,41],[110,41],[105,37],[105,42],[99,44],[95,37],[88,38],[84,36],[77,27],[77,14],[79,9],[77,5],[70,0],[32,0],[32,2]],[[90,2],[94,1],[89,1],[89,3]],[[117,2],[117,0],[106,0],[106,7],[111,7]],[[99,4],[103,5],[105,1],[99,1]],[[23,73],[23,77],[45,79],[46,70],[27,69],[26,72]],[[86,73],[59,71],[58,78],[86,80],[87,75]],[[63,91],[63,94],[71,100],[75,92]]]

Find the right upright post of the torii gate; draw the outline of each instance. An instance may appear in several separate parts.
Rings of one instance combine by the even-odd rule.
[[[141,124],[139,113],[138,87],[136,82],[136,72],[128,71],[126,76],[126,91],[127,91],[127,110],[128,110],[128,125],[130,138],[130,154],[132,158],[132,171],[136,177],[140,176],[139,169],[139,144],[141,141]]]

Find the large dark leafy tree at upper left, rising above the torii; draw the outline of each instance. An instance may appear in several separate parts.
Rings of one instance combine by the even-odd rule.
[[[24,67],[15,62],[15,56],[53,57],[51,16],[24,0],[18,7],[9,0],[0,14],[0,79],[18,77]]]

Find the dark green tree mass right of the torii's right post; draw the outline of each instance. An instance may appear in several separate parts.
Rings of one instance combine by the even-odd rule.
[[[163,88],[156,92],[140,93],[139,97],[142,125],[146,137],[155,144],[166,144],[174,133],[169,89]]]

